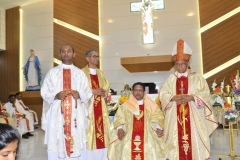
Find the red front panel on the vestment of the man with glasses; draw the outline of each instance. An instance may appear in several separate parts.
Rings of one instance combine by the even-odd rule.
[[[99,82],[97,75],[90,74],[92,89],[99,88]],[[96,138],[96,148],[106,148],[104,144],[104,128],[103,128],[103,114],[102,114],[102,101],[101,96],[94,96],[93,103],[94,121],[95,121],[95,138]]]

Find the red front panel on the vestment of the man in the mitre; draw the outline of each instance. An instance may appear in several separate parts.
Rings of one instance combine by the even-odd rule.
[[[176,82],[177,95],[188,94],[188,78],[180,77]],[[177,105],[179,160],[192,160],[191,119],[188,103]]]

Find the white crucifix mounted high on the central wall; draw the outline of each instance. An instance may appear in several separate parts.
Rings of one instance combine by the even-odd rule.
[[[142,0],[141,2],[131,2],[131,12],[142,13],[143,44],[154,43],[153,32],[153,10],[164,9],[164,0]]]

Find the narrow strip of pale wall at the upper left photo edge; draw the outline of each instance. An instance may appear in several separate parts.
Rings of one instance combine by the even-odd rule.
[[[6,50],[6,10],[0,7],[0,51]]]

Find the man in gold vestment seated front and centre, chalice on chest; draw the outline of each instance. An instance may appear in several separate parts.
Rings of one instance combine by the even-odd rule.
[[[162,111],[145,94],[144,84],[133,84],[129,100],[118,107],[114,117],[109,160],[165,160],[168,149],[162,137],[163,121]]]

